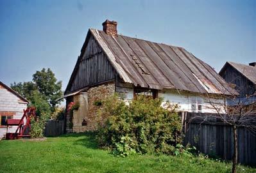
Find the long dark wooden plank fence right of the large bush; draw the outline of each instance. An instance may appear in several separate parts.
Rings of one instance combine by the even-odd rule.
[[[225,160],[232,160],[234,137],[232,126],[221,123],[189,121],[196,113],[189,113],[183,118],[184,143],[195,146],[199,151]],[[201,114],[200,114],[201,116]],[[205,114],[204,116],[207,116]],[[238,160],[246,165],[256,165],[256,136],[246,128],[238,128]]]

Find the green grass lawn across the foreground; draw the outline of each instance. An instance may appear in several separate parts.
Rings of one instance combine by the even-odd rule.
[[[44,141],[0,141],[0,172],[230,172],[231,164],[185,156],[139,155],[120,158],[98,149],[92,133]],[[238,172],[256,172],[239,165]]]

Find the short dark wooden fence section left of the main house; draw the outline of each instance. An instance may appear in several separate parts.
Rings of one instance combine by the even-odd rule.
[[[64,134],[64,120],[56,121],[49,120],[46,123],[46,128],[44,130],[44,136],[46,137],[56,137],[58,135]]]

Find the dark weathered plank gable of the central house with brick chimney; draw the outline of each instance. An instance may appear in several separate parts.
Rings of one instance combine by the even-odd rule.
[[[67,93],[115,79],[114,68],[92,35],[89,36],[89,41],[81,56],[78,70]]]

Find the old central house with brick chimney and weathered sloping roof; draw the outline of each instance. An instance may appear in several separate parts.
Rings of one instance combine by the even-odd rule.
[[[96,128],[96,102],[114,93],[126,101],[137,94],[163,97],[181,111],[212,112],[209,96],[225,103],[236,93],[208,64],[182,47],[117,34],[117,22],[106,20],[103,31],[89,29],[64,93],[67,105],[79,102],[67,123],[74,132]],[[69,121],[72,121],[70,123]],[[86,126],[81,126],[86,121]]]

